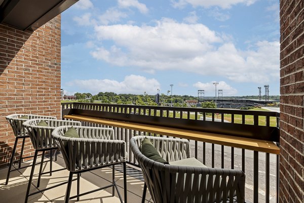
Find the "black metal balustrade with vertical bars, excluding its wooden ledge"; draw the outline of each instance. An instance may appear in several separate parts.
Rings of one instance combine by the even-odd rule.
[[[280,114],[278,112],[62,103],[62,116],[70,114],[266,140],[279,146]],[[84,121],[82,123],[84,126],[104,127]],[[129,144],[129,139],[136,135],[166,136],[127,128],[113,128],[118,139],[125,140],[127,144]],[[191,140],[191,143],[193,155],[206,166],[241,169],[245,172],[246,202],[279,202],[279,155],[196,140]],[[137,166],[130,149],[128,153],[128,163]]]

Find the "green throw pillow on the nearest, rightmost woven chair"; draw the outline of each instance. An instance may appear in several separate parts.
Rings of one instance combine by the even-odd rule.
[[[148,138],[144,138],[141,142],[141,153],[145,155],[147,158],[155,160],[162,164],[169,164],[168,161],[163,159],[156,148],[153,146],[151,141]]]

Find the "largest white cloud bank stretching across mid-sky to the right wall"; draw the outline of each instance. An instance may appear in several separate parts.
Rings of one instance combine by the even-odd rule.
[[[162,19],[155,26],[96,26],[98,40],[112,40],[91,55],[118,66],[143,71],[180,70],[219,75],[236,82],[269,82],[279,77],[279,42],[258,42],[250,50],[238,50],[229,37],[203,24]]]

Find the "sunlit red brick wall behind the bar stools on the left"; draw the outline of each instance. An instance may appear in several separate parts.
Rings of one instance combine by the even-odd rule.
[[[15,141],[6,115],[60,118],[60,31],[60,15],[33,32],[0,24],[0,168],[7,166]],[[24,156],[31,152],[28,139]]]

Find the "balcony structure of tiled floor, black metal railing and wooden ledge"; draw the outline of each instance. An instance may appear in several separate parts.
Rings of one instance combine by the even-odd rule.
[[[192,156],[207,167],[240,169],[246,174],[246,202],[278,202],[279,190],[279,113],[230,109],[202,109],[160,106],[136,106],[93,103],[62,104],[64,119],[82,121],[83,126],[111,127],[117,139],[126,141],[128,147],[128,200],[140,202],[143,178],[129,149],[129,139],[136,135],[186,138],[191,142]],[[58,155],[56,167],[64,166]],[[48,170],[48,168],[46,168]],[[101,182],[110,181],[111,169],[104,169],[82,176],[84,188],[96,188]],[[6,199],[20,198],[26,190],[29,169],[15,171],[8,186],[1,185]],[[54,174],[55,175],[55,174]],[[66,180],[67,171],[58,176],[44,176],[41,187]],[[0,171],[0,181],[6,178],[6,170]],[[122,189],[122,174],[116,170],[116,178]],[[65,185],[44,194],[36,194],[30,202],[62,201]],[[14,189],[15,188],[15,189]],[[18,188],[18,189],[16,189]],[[24,189],[23,189],[24,188]],[[23,192],[24,190],[24,192]],[[72,187],[75,192],[75,188]],[[111,189],[82,196],[81,202],[119,202],[111,197]],[[149,202],[150,196],[146,196]],[[13,202],[13,201],[12,201]],[[22,202],[22,200],[21,200]]]

